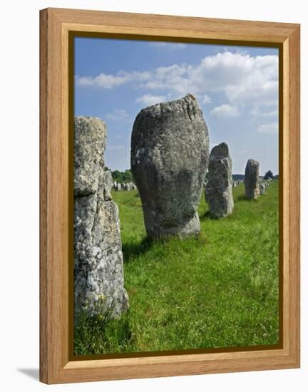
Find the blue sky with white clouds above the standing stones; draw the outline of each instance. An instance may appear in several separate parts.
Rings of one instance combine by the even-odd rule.
[[[278,172],[278,51],[272,48],[75,38],[75,114],[107,124],[106,165],[130,167],[130,133],[148,105],[197,97],[210,148],[230,147],[233,173],[247,159]]]

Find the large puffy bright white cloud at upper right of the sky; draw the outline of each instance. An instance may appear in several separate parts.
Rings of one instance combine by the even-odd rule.
[[[277,56],[224,52],[206,56],[195,66],[174,64],[156,68],[143,86],[198,96],[222,91],[230,103],[272,104],[277,103],[277,78]]]

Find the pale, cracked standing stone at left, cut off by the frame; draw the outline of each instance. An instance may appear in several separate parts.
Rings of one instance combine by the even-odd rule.
[[[74,127],[75,314],[128,309],[123,287],[123,254],[118,207],[111,201],[111,179],[104,172],[106,125],[75,117]]]

